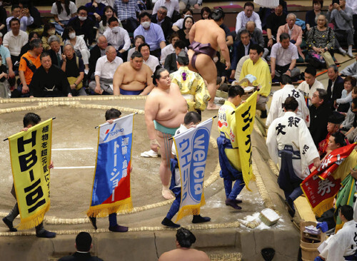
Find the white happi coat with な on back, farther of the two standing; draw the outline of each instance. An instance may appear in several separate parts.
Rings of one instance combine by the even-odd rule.
[[[268,118],[266,118],[266,126],[271,125],[272,121],[284,115],[283,103],[285,103],[286,98],[289,96],[293,96],[296,98],[296,101],[298,101],[298,111],[296,116],[302,118],[303,121],[305,121],[306,126],[310,126],[310,112],[306,106],[303,94],[296,90],[291,84],[286,84],[281,90],[278,90],[273,94]]]

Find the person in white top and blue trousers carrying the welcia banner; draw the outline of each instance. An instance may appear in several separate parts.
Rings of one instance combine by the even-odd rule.
[[[183,124],[181,124],[180,128],[177,129],[175,135],[184,133],[185,131],[188,131],[189,128],[196,128],[196,126],[200,122],[201,122],[201,115],[196,113],[196,111],[189,111],[188,113],[186,113],[186,116],[183,120]],[[178,213],[181,203],[181,175],[180,175],[180,170],[178,168],[175,143],[172,144],[171,153],[174,155],[174,158],[171,158],[170,190],[174,193],[176,198],[171,205],[169,213],[167,213],[166,218],[162,220],[161,224],[166,225],[168,227],[180,227],[180,225],[175,224],[174,222],[171,221],[171,219],[174,218],[174,215]],[[201,222],[208,222],[209,220],[211,220],[211,218],[201,217],[201,215],[193,215],[192,222],[201,223]]]

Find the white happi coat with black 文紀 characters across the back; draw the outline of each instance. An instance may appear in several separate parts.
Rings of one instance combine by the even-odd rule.
[[[276,118],[268,128],[266,137],[271,159],[281,166],[281,158],[278,156],[278,150],[283,150],[285,145],[293,146],[293,150],[299,150],[301,160],[293,159],[293,170],[298,178],[302,180],[309,174],[306,168],[318,158],[318,150],[308,127],[303,119],[296,116],[292,111],[287,111],[284,116]]]

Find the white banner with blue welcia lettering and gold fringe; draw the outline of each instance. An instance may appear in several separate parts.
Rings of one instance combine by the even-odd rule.
[[[173,137],[181,175],[181,204],[177,220],[186,215],[198,215],[201,205],[205,204],[203,181],[212,123],[213,118],[209,118],[196,128]]]

